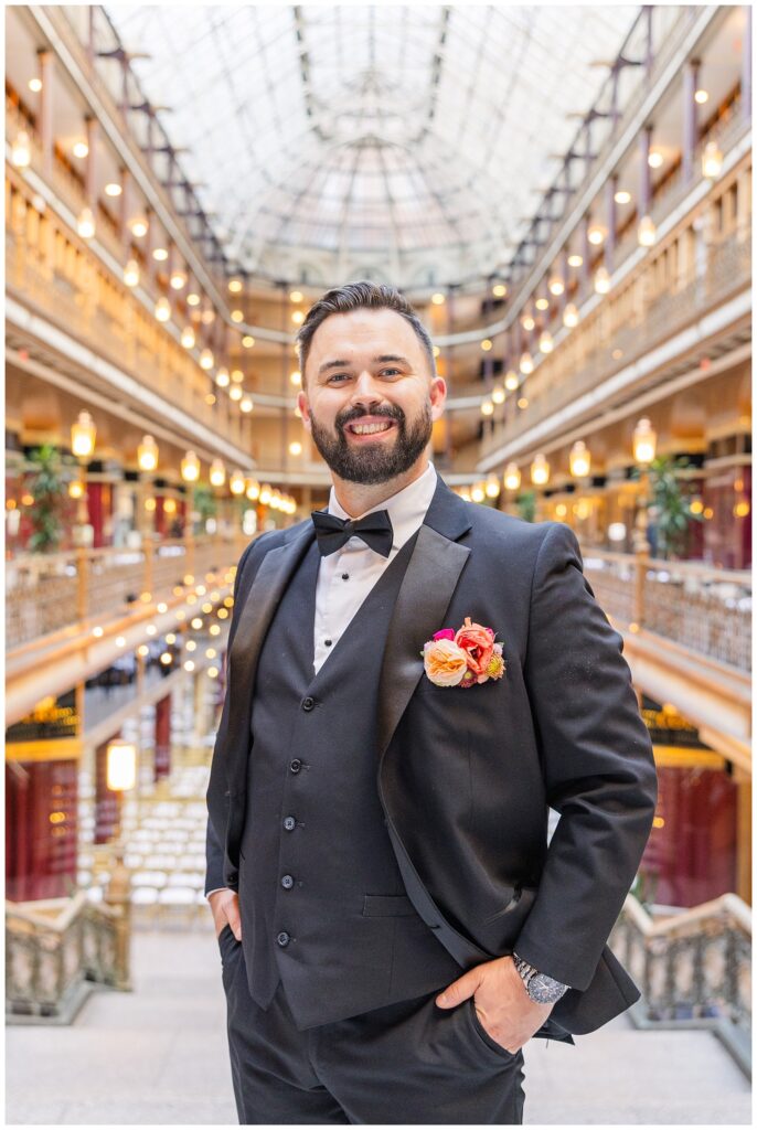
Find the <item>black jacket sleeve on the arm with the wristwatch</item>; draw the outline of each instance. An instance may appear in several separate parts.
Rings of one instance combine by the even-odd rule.
[[[623,636],[583,575],[575,534],[548,524],[532,580],[524,675],[547,799],[560,819],[513,948],[584,990],[652,827],[656,772]]]

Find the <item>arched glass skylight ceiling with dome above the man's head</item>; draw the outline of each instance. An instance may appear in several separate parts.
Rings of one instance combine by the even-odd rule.
[[[508,263],[638,8],[106,11],[232,263],[408,286]]]

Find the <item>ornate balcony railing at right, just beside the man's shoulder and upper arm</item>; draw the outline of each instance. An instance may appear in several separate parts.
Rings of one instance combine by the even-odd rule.
[[[584,574],[618,627],[630,624],[751,670],[751,574],[582,547]]]

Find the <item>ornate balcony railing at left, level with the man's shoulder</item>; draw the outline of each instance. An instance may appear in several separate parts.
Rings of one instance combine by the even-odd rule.
[[[205,537],[16,557],[6,563],[6,646],[12,652],[42,636],[115,619],[147,593],[153,603],[169,599],[174,586],[189,583],[188,574],[224,574],[243,547],[241,539]]]

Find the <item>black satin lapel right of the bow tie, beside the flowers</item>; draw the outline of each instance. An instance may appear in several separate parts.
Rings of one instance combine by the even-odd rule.
[[[424,643],[444,627],[444,616],[469,554],[470,548],[430,525],[418,530],[384,650],[378,690],[380,762],[424,673]]]

